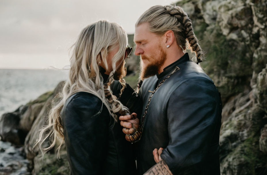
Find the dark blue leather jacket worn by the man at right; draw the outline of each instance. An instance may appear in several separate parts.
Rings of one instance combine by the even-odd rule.
[[[175,174],[220,175],[219,134],[222,102],[213,81],[186,53],[160,75],[145,79],[140,95],[143,113],[151,92],[176,71],[151,98],[138,143],[137,169],[144,174],[154,166],[152,151],[162,147],[161,158]]]

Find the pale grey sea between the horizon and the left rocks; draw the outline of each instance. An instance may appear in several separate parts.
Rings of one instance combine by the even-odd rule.
[[[0,116],[54,90],[67,77],[67,70],[0,69]]]

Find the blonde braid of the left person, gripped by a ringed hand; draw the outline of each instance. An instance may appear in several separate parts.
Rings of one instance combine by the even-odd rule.
[[[108,79],[108,83],[104,84],[104,93],[108,103],[110,104],[112,113],[115,114],[115,120],[118,121],[118,115],[116,113],[119,113],[120,115],[126,115],[127,113],[129,114],[130,111],[126,106],[123,106],[123,104],[117,99],[115,95],[112,94],[110,90],[110,84],[112,84],[113,81],[114,77],[113,75],[111,75]]]

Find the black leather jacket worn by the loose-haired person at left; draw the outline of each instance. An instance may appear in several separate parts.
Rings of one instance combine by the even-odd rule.
[[[104,82],[107,75],[102,71]],[[112,90],[119,94],[115,81]],[[127,85],[121,100],[126,105],[133,93]],[[77,92],[62,109],[62,124],[70,174],[136,174],[133,144],[125,140],[120,122],[95,95]]]

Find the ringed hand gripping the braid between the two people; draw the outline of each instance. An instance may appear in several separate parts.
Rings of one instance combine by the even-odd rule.
[[[136,113],[119,117],[119,120],[121,120],[121,126],[124,127],[122,129],[124,134],[134,134],[137,131],[139,126],[139,119],[136,117],[137,117]],[[131,142],[129,136],[125,136],[125,139]]]

